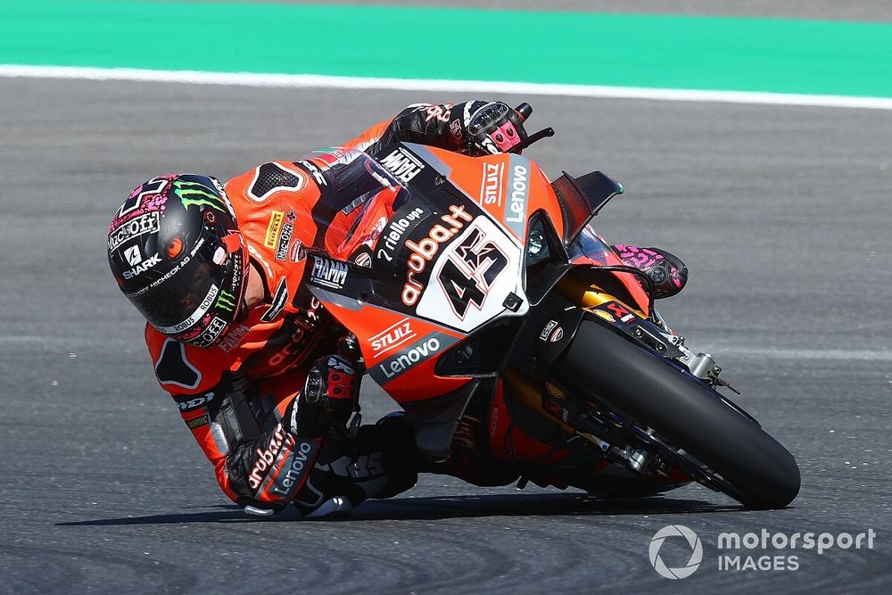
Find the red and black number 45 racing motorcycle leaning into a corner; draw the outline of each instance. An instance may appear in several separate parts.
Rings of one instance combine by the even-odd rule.
[[[634,497],[696,481],[785,507],[796,461],[719,393],[722,368],[592,227],[623,187],[600,171],[549,181],[519,154],[553,134],[484,157],[359,153],[338,181],[351,223],[308,253],[310,291],[431,461],[484,459],[518,487]]]

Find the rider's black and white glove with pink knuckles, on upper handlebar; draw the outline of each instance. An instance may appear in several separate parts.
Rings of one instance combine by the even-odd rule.
[[[472,157],[508,153],[526,138],[524,117],[502,102],[456,105],[450,116],[450,133]]]

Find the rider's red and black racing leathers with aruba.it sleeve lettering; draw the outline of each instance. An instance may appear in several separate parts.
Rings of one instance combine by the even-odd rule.
[[[458,150],[468,115],[481,104],[409,106],[346,145],[264,163],[227,183],[266,298],[218,347],[178,343],[148,325],[145,340],[158,382],[230,499],[253,509],[295,501],[311,510],[334,495],[356,504],[415,483],[410,428],[363,426],[356,442],[343,445],[307,420],[314,415],[301,397],[307,371],[337,351],[344,329],[303,286],[310,274],[304,251],[343,257],[337,252],[352,219],[338,185],[356,152],[396,141]]]

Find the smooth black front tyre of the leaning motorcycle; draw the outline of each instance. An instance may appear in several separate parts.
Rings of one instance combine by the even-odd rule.
[[[594,320],[583,320],[552,373],[570,391],[706,467],[714,484],[751,508],[783,508],[799,492],[793,456],[711,388]]]

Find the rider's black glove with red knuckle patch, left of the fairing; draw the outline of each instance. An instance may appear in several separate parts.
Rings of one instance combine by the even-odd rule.
[[[298,434],[318,435],[326,426],[346,426],[359,390],[356,364],[340,355],[319,358],[307,375],[298,404]]]

